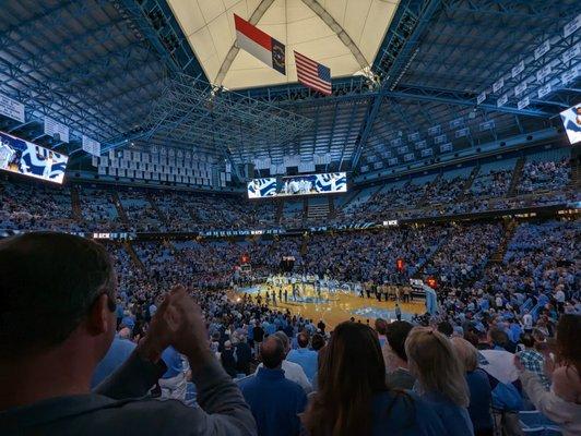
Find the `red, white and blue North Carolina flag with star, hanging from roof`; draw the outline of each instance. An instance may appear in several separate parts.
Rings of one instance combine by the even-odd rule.
[[[281,44],[236,14],[234,14],[234,24],[236,26],[236,43],[239,48],[248,51],[281,74],[286,75],[284,44]]]

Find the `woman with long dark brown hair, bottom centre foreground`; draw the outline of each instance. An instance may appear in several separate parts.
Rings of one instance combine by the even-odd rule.
[[[430,405],[413,392],[386,386],[386,366],[371,328],[342,323],[321,353],[319,390],[301,416],[307,434],[446,434]]]

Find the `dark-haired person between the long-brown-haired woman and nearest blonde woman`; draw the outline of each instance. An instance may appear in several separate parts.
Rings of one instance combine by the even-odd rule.
[[[388,324],[383,347],[386,360],[386,383],[391,388],[412,389],[416,378],[410,373],[407,354],[405,354],[405,339],[414,326],[405,320]]]

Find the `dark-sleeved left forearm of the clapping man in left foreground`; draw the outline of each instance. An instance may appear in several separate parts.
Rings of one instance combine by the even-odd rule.
[[[153,363],[139,353],[139,348],[111,375],[104,379],[94,390],[116,400],[139,398],[147,393],[159,377],[167,371],[164,361]]]

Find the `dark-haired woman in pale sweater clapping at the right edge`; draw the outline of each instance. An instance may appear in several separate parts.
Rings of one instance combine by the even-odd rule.
[[[556,362],[546,360],[546,372],[553,380],[547,391],[538,376],[526,371],[520,359],[514,364],[520,371],[522,387],[536,409],[561,426],[564,435],[581,434],[581,331],[580,315],[562,315],[557,325]]]

